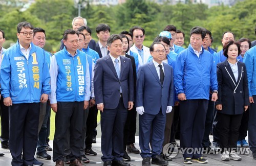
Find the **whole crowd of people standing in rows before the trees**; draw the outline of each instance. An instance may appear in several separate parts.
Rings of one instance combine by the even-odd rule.
[[[239,147],[249,147],[256,159],[255,41],[224,32],[217,53],[211,32],[194,27],[185,49],[185,34],[167,25],[148,48],[142,27],[110,35],[101,23],[95,42],[85,18],[75,17],[72,26],[53,55],[44,50],[44,29],[19,22],[18,40],[7,50],[0,30],[0,139],[12,165],[42,165],[36,158],[57,166],[90,162],[87,156],[97,155],[98,110],[103,165],[130,165],[127,152],[140,153],[143,166],[168,165],[163,147],[177,138],[188,149],[185,164],[207,163],[202,153],[212,150],[210,133],[221,160],[240,161]]]

